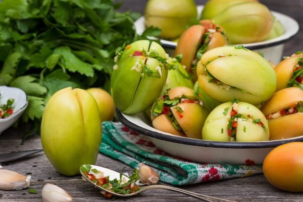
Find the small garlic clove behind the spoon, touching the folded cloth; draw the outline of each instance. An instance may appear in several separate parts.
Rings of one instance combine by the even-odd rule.
[[[157,184],[159,181],[159,173],[144,163],[139,164],[138,175],[139,180],[145,184]]]

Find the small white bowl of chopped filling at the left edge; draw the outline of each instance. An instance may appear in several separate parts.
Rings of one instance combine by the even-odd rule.
[[[5,104],[9,98],[14,98],[13,114],[7,118],[0,119],[0,134],[13,125],[22,115],[28,105],[26,93],[18,88],[0,86],[0,104]]]

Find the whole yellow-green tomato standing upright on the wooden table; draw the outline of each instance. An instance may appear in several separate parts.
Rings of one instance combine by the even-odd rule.
[[[79,174],[83,164],[95,164],[101,143],[101,120],[94,97],[70,87],[51,96],[43,112],[41,142],[55,169]]]

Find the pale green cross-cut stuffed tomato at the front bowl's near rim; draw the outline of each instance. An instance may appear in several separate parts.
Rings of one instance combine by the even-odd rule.
[[[226,102],[206,118],[202,139],[212,141],[268,141],[269,129],[265,116],[254,105]]]

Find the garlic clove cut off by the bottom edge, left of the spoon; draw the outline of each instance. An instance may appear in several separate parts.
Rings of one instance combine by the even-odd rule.
[[[72,202],[72,197],[62,188],[54,184],[45,184],[42,189],[43,202]]]

